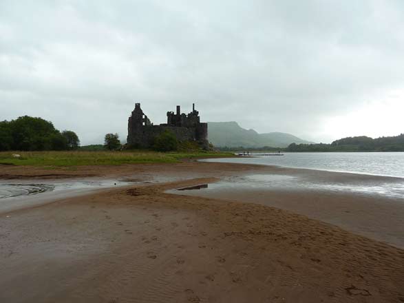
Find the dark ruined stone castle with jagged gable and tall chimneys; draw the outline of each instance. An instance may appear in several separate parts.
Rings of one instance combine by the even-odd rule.
[[[136,103],[128,121],[127,143],[132,147],[150,148],[156,136],[166,130],[172,132],[180,141],[195,141],[202,148],[209,148],[208,123],[200,123],[195,103],[189,114],[181,114],[180,105],[177,105],[176,113],[167,112],[167,123],[160,125],[153,125],[140,108],[140,103]]]

